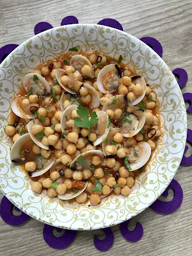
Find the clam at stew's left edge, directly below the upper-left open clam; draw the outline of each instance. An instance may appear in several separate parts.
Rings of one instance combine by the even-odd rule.
[[[33,113],[39,108],[37,103],[23,104],[22,100],[26,99],[25,96],[15,97],[12,100],[12,111],[15,115],[24,118],[26,120],[33,118]]]

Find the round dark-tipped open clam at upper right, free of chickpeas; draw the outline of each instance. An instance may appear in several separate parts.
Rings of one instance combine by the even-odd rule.
[[[97,86],[102,93],[113,93],[118,90],[119,79],[122,77],[120,68],[110,64],[100,70],[97,77]]]

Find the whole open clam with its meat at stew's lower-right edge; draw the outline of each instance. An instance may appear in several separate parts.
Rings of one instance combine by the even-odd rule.
[[[127,152],[128,154],[124,159],[125,167],[129,171],[134,171],[147,163],[150,158],[151,148],[147,142],[141,141],[136,147],[127,148]]]

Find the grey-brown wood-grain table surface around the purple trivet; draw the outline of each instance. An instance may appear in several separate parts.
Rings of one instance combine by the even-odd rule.
[[[47,21],[60,26],[63,17],[74,15],[79,23],[95,23],[104,18],[118,20],[124,31],[141,38],[153,36],[163,45],[163,60],[171,70],[180,67],[188,72],[188,84],[182,89],[192,92],[192,1],[186,0],[0,0],[0,47],[21,44],[34,35],[36,23]],[[188,114],[188,127],[192,128]],[[192,150],[189,148],[187,155]],[[191,166],[180,166],[175,175],[184,192],[181,207],[172,214],[161,215],[147,209],[130,223],[143,225],[144,234],[137,243],[129,243],[112,227],[115,241],[107,252],[99,252],[93,236],[104,238],[100,230],[77,232],[76,240],[64,250],[54,250],[44,241],[43,223],[30,219],[21,227],[12,227],[0,218],[0,255],[192,255]],[[170,193],[166,200],[171,200]],[[0,200],[3,194],[0,192]],[[165,199],[163,199],[165,200]],[[132,230],[131,229],[131,230]]]

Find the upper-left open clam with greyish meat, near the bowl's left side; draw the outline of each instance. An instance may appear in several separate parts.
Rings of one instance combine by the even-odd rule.
[[[29,92],[31,87],[33,87],[32,93],[35,93],[38,96],[46,96],[51,93],[50,86],[45,78],[38,74],[26,74],[26,76],[23,77],[22,83],[26,92]]]

